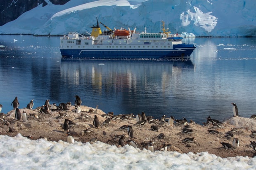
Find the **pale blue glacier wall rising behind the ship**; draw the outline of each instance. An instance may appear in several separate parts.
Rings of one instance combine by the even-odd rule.
[[[256,36],[256,1],[252,0],[70,0],[65,5],[31,9],[0,26],[0,34],[88,35],[96,17],[111,29],[161,31],[196,37]],[[104,28],[102,26],[102,28]]]

